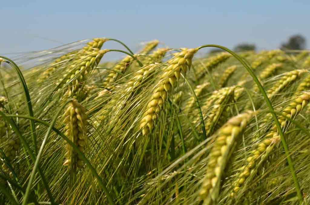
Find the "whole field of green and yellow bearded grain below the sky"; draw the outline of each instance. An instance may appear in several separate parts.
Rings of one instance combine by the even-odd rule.
[[[309,52],[159,45],[0,57],[0,204],[310,204]]]

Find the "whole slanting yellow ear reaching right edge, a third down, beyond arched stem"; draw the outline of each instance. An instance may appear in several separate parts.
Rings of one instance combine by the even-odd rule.
[[[308,72],[306,69],[297,69],[290,72],[286,72],[283,76],[269,89],[267,95],[270,100],[275,97],[276,94],[286,89],[290,84],[299,79],[302,73]]]

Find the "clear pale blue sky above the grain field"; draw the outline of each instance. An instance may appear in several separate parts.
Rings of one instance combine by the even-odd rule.
[[[3,0],[0,19],[0,54],[94,37],[116,38],[133,50],[153,39],[171,48],[249,42],[274,49],[290,35],[302,34],[310,48],[310,0]]]

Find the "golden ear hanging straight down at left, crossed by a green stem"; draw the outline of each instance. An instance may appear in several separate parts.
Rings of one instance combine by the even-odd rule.
[[[86,109],[77,101],[73,100],[67,110],[64,113],[65,135],[78,146],[82,152],[84,152],[86,146],[86,138],[88,129]],[[66,154],[64,165],[72,165],[74,167],[83,167],[82,158],[72,149],[72,147],[66,145]]]

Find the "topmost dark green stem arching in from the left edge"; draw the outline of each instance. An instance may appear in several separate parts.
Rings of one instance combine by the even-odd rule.
[[[28,107],[28,113],[29,113],[30,116],[33,117],[34,115],[33,115],[33,110],[32,110],[31,98],[30,98],[30,95],[29,95],[29,90],[28,90],[26,81],[24,79],[23,73],[20,71],[19,67],[11,59],[9,59],[7,57],[4,57],[4,56],[0,56],[0,61],[1,61],[1,59],[4,59],[6,63],[11,65],[12,68],[17,73],[17,76],[19,77],[20,82],[21,82],[21,84],[23,86],[23,89],[24,89],[24,95],[25,95],[25,98],[26,98],[26,104],[27,104],[27,107]],[[37,150],[37,136],[36,136],[36,133],[35,133],[36,129],[35,129],[34,122],[32,120],[30,120],[30,125],[31,125],[31,132],[32,132],[31,133],[32,134],[32,140],[33,140],[33,144],[34,144],[34,152],[38,153],[38,150]]]

